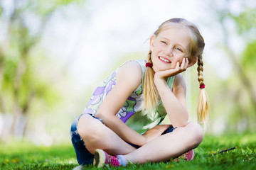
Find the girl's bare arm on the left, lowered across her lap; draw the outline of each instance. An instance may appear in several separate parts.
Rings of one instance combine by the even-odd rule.
[[[142,146],[146,137],[129,128],[117,118],[116,114],[124,105],[129,95],[137,89],[142,81],[142,68],[137,62],[127,62],[117,72],[117,84],[107,94],[105,100],[97,110],[96,117],[101,118],[108,128],[113,130],[124,141]]]

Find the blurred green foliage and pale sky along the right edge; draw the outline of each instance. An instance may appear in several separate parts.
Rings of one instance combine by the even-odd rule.
[[[256,81],[251,78],[255,77],[256,71],[255,6],[246,0],[209,2],[216,18],[214,24],[220,28],[216,46],[223,50],[225,57],[220,62],[227,63],[222,65],[223,68],[231,67],[225,80],[214,79],[213,82],[214,89],[209,95],[213,124],[225,131],[255,130]],[[234,8],[234,4],[240,9]]]

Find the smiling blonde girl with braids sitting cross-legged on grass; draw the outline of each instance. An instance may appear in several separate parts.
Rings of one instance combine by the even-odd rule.
[[[78,163],[126,166],[127,162],[162,162],[181,154],[192,160],[203,131],[197,123],[188,123],[186,84],[180,73],[198,62],[198,120],[206,123],[204,45],[193,23],[183,18],[162,23],[151,35],[147,60],[129,61],[116,69],[74,120],[71,138]],[[160,125],[166,115],[171,125]]]

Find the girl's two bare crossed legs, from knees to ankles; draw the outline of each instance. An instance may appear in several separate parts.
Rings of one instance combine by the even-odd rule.
[[[185,127],[156,137],[155,140],[136,149],[124,142],[100,120],[86,114],[80,117],[78,133],[90,153],[94,154],[95,149],[103,149],[108,154],[122,154],[129,162],[139,162],[139,164],[178,157],[198,147],[203,140],[201,126],[197,123],[188,123]]]

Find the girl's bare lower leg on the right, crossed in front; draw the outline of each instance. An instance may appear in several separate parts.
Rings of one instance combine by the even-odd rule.
[[[198,147],[203,140],[203,131],[197,123],[188,123],[186,127],[161,135],[146,145],[134,150],[124,157],[130,162],[144,164],[161,162]]]

